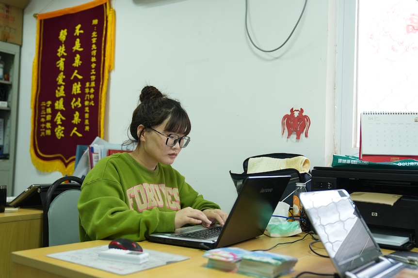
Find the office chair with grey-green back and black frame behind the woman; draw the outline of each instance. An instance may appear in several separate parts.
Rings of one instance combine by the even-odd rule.
[[[66,181],[75,181],[77,189],[64,190],[54,197],[57,187]],[[44,247],[80,241],[77,203],[82,182],[77,176],[64,176],[49,187],[44,205]]]

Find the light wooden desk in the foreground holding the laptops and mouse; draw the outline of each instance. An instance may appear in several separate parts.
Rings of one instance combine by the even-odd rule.
[[[256,239],[249,240],[235,245],[248,250],[254,249],[268,249],[273,247],[277,243],[285,243],[301,239],[302,235],[297,235],[288,238],[270,238],[267,236],[260,236]],[[298,258],[298,263],[295,266],[295,272],[285,276],[292,277],[302,271],[310,270],[320,273],[334,273],[335,269],[331,261],[327,258],[322,258],[314,255],[309,249],[309,243],[312,242],[310,235],[302,241],[285,244],[273,249],[272,252],[287,254]],[[95,268],[69,263],[53,258],[49,258],[46,255],[58,252],[64,252],[74,249],[91,248],[95,246],[101,246],[108,244],[108,240],[96,240],[90,242],[73,243],[61,246],[53,246],[40,249],[32,249],[25,251],[17,251],[12,254],[13,260],[13,277],[14,278],[121,278],[122,276],[116,275],[110,272],[101,271]],[[188,260],[171,263],[164,266],[148,269],[141,272],[132,273],[130,275],[124,275],[124,278],[137,278],[137,277],[199,277],[199,278],[213,278],[213,277],[248,277],[237,273],[226,273],[216,269],[206,268],[208,259],[203,258],[203,250],[191,249],[185,247],[176,247],[151,242],[140,242],[140,245],[145,249],[153,249],[162,252],[168,252],[178,255],[184,255],[191,257]],[[314,245],[317,252],[325,254],[325,250],[322,249],[322,244],[318,243]],[[305,276],[309,277],[309,276]]]

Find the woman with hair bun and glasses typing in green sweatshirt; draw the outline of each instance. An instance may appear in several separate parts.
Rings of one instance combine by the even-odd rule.
[[[206,201],[171,164],[190,142],[189,117],[175,100],[146,86],[130,134],[136,148],[97,162],[81,187],[80,240],[145,240],[186,224],[224,225],[227,214]]]

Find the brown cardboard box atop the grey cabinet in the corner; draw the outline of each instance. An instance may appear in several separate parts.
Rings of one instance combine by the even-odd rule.
[[[23,9],[30,0],[0,1],[0,41],[22,45]]]

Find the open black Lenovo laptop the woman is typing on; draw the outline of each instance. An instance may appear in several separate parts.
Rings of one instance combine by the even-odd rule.
[[[175,233],[151,234],[148,240],[209,250],[262,235],[289,179],[290,176],[249,176],[244,180],[224,226],[187,226],[176,229]]]

